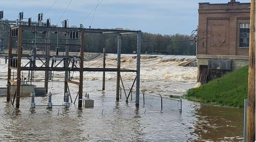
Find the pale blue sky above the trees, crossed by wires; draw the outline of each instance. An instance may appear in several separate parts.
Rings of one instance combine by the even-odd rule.
[[[23,11],[25,18],[45,13],[44,19],[51,19],[56,25],[60,19],[68,19],[69,25],[79,25],[102,0],[1,0],[0,9],[4,18],[16,20]],[[190,34],[198,24],[198,3],[227,3],[230,0],[103,0],[82,22],[85,28],[128,28],[155,34]],[[236,0],[250,2],[250,0]],[[92,22],[93,19],[93,22]],[[35,21],[37,18],[35,18]],[[92,24],[91,24],[92,23]]]

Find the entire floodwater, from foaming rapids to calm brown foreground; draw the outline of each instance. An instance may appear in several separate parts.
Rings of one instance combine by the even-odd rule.
[[[134,61],[123,56],[123,68],[136,67]],[[132,55],[131,55],[132,56]],[[196,84],[194,67],[181,67],[179,63],[189,61],[194,56],[160,56],[161,58],[142,59],[141,89],[164,97],[182,95]],[[116,65],[116,55],[107,56],[107,68]],[[175,60],[173,60],[175,58]],[[3,60],[3,59],[2,59]],[[101,59],[85,63],[93,68],[99,67]],[[125,61],[124,61],[125,60]],[[40,65],[40,62],[38,62]],[[7,65],[0,63],[1,70]],[[6,70],[7,72],[7,70]],[[54,80],[63,80],[63,72],[55,72]],[[74,81],[79,73],[73,74]],[[121,73],[125,87],[131,87],[135,73]],[[7,74],[0,73],[0,87],[5,87]],[[24,73],[25,76],[25,73]],[[14,77],[15,78],[15,77]],[[35,72],[35,80],[43,75]],[[140,108],[135,107],[135,95],[125,103],[125,95],[116,102],[116,73],[106,73],[106,90],[102,91],[102,72],[85,72],[84,93],[94,99],[94,108],[77,109],[77,102],[70,108],[45,107],[29,109],[29,97],[20,98],[20,109],[16,110],[6,97],[0,97],[0,141],[91,141],[91,142],[242,142],[243,110],[206,106],[183,100],[180,103],[163,99],[163,110],[158,97],[140,95]],[[41,87],[43,83],[34,83]],[[63,83],[49,83],[53,92],[52,102],[63,102]],[[72,100],[75,100],[77,86],[70,84]],[[46,105],[47,97],[36,97],[36,105]],[[130,101],[131,100],[131,101]],[[15,105],[15,103],[14,103]]]

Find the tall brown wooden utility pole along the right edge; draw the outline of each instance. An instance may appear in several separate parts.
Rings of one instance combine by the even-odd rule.
[[[247,142],[255,142],[255,0],[251,0],[249,42]]]

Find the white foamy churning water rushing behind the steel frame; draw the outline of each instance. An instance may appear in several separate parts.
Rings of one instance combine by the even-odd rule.
[[[186,63],[195,59],[195,56],[174,56],[174,55],[142,55],[141,56],[141,68],[140,68],[140,86],[146,93],[161,92],[163,95],[182,95],[187,89],[193,88],[196,84],[197,68],[196,67],[182,67],[181,63]],[[25,65],[28,60],[23,60],[22,65]],[[134,54],[122,54],[121,56],[121,68],[136,70],[136,55]],[[58,63],[59,61],[57,61]],[[56,63],[56,65],[57,65]],[[43,63],[39,60],[36,61],[37,66],[41,66]],[[51,63],[50,63],[51,64]],[[106,68],[116,68],[117,55],[106,55]],[[62,67],[63,63],[59,65]],[[71,65],[70,65],[71,66]],[[79,63],[77,63],[79,67]],[[85,61],[84,67],[88,68],[102,68],[102,58],[93,59],[91,61]],[[2,79],[7,79],[7,64],[0,63],[0,69],[3,72],[0,73]],[[23,77],[27,77],[27,72],[23,72]],[[79,72],[71,72],[73,81],[78,81]],[[111,82],[115,88],[116,72],[106,72],[106,81]],[[16,71],[14,76],[16,78]],[[131,84],[136,77],[135,72],[121,72],[121,77],[124,81],[126,88],[131,87]],[[44,80],[44,72],[35,72],[35,81]],[[54,72],[54,80],[63,81],[63,72]],[[96,81],[101,82],[102,72],[84,72],[84,81]],[[113,82],[113,83],[112,83]],[[34,83],[38,86],[43,86],[42,83]],[[1,81],[1,87],[6,86],[6,81]],[[49,86],[50,87],[50,86]]]

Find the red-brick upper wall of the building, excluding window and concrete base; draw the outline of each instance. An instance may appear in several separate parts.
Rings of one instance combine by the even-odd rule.
[[[250,21],[250,3],[199,3],[198,54],[248,56],[239,47],[240,23]]]

